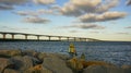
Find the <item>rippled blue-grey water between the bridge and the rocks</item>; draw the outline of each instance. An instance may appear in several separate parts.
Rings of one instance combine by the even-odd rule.
[[[131,65],[131,41],[73,42],[79,57],[85,53],[86,60],[99,60],[117,65]],[[44,52],[68,53],[69,41],[0,41],[0,49],[33,49]]]

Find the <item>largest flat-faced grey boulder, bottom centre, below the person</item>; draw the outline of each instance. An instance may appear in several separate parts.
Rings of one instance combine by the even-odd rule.
[[[44,58],[43,66],[53,73],[72,73],[72,70],[67,66],[66,61],[56,56]]]

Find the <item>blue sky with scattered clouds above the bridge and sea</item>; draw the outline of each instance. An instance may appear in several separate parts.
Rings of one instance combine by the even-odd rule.
[[[0,32],[131,41],[131,0],[0,0]]]

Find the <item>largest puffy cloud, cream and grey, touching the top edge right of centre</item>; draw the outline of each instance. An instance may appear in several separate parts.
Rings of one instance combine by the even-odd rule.
[[[99,13],[116,7],[119,0],[70,0],[60,12],[68,16],[80,16],[85,13]]]

